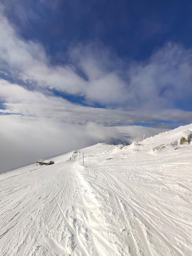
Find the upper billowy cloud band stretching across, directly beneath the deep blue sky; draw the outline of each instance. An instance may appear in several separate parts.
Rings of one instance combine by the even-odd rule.
[[[2,13],[0,30],[2,67],[33,86],[84,96],[91,106],[175,108],[192,92],[192,50],[181,45],[168,43],[129,66],[102,45],[80,45],[68,52],[73,65],[52,66],[42,45],[20,38]]]

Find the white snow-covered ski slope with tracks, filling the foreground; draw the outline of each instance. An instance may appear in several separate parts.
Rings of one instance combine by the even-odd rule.
[[[188,130],[1,174],[1,255],[192,255],[192,144],[174,144]]]

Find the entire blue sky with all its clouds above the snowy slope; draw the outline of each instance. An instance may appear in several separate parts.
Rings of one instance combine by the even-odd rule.
[[[190,0],[0,0],[0,31],[5,155],[23,137],[51,136],[56,155],[121,137],[119,124],[191,123]]]

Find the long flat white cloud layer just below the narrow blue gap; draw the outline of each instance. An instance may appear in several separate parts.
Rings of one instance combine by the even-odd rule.
[[[118,123],[132,124],[137,122],[154,122],[156,120],[170,120],[190,122],[191,112],[166,109],[156,112],[138,109],[134,111],[110,110],[78,106],[51,94],[30,91],[18,84],[0,79],[0,101],[5,102],[6,109],[2,113],[17,114],[26,117],[44,117],[53,121],[69,124],[86,124],[89,121],[114,126]]]

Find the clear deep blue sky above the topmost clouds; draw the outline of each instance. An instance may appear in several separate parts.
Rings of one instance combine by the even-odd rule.
[[[19,34],[42,43],[53,64],[65,63],[67,49],[78,43],[98,41],[136,61],[145,61],[169,41],[191,47],[190,0],[2,2]]]

